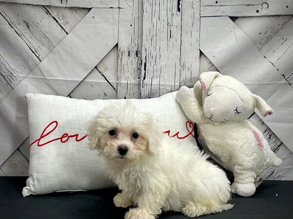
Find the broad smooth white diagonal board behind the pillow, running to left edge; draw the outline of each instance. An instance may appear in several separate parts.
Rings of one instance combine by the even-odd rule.
[[[68,95],[114,47],[118,9],[92,9],[0,103],[0,164],[28,136],[24,94]]]

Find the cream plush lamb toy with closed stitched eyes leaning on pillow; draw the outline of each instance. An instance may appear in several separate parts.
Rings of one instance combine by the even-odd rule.
[[[263,134],[247,120],[257,108],[263,116],[271,107],[238,80],[218,72],[206,72],[191,89],[183,86],[177,101],[197,124],[209,150],[234,174],[233,193],[249,197],[261,183],[261,173],[280,160]]]

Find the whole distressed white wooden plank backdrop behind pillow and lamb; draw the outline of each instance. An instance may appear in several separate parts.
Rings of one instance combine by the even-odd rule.
[[[293,0],[0,0],[0,176],[27,176],[24,94],[150,98],[220,71],[261,95],[250,118],[293,180]],[[13,3],[11,3],[13,2]]]

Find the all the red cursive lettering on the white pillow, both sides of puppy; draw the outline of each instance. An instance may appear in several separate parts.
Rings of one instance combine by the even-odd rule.
[[[66,143],[70,138],[74,138],[74,140],[76,142],[80,142],[82,140],[84,140],[87,135],[83,135],[81,138],[79,138],[79,134],[68,134],[68,133],[64,133],[61,137],[58,137],[58,138],[54,138],[54,139],[51,139],[49,141],[44,141],[44,138],[48,137],[49,135],[51,135],[55,130],[56,128],[58,127],[58,121],[53,121],[53,122],[50,122],[45,128],[44,130],[42,131],[41,135],[39,138],[37,138],[35,141],[33,141],[32,143],[30,143],[29,146],[32,146],[34,145],[35,143],[37,143],[37,145],[39,147],[41,146],[44,146],[44,145],[47,145],[51,142],[55,142],[55,141],[60,141],[61,143]],[[170,135],[170,130],[167,130],[167,131],[164,131],[164,133],[168,134],[168,136],[170,137],[176,137],[178,139],[185,139],[187,138],[189,135],[194,137],[193,135],[193,123],[190,122],[190,121],[187,121],[186,124],[185,124],[185,127],[186,127],[186,130],[188,131],[188,133],[184,136],[179,136],[179,131],[177,131],[175,134],[173,135]]]

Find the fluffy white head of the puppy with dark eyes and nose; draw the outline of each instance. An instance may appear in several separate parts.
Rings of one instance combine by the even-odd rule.
[[[149,113],[129,101],[113,103],[95,116],[87,131],[89,148],[108,160],[134,162],[158,152],[162,133]]]

